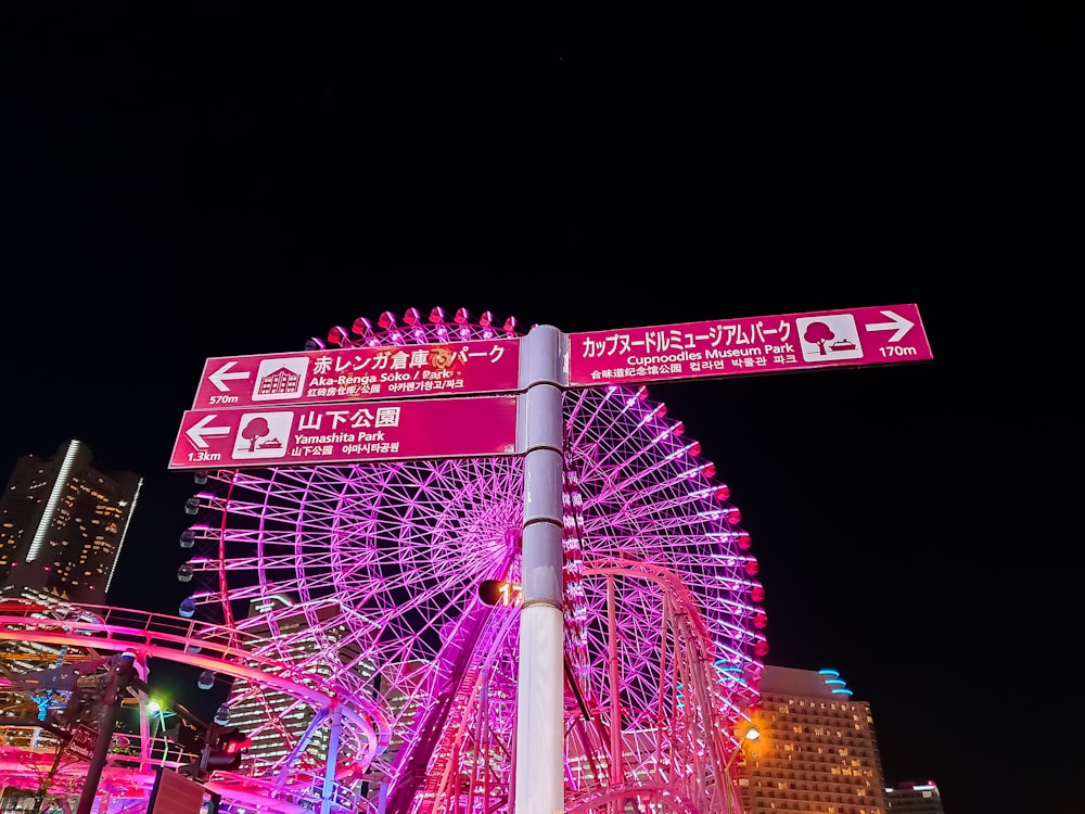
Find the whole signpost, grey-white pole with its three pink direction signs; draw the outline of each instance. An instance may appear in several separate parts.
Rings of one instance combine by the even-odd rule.
[[[515,811],[551,814],[564,809],[562,389],[932,358],[915,305],[220,357],[169,468],[524,456]],[[494,393],[518,395],[448,397]]]

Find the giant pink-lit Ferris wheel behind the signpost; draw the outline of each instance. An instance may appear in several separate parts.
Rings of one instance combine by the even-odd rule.
[[[314,344],[518,335],[412,308]],[[643,387],[567,390],[562,416],[565,810],[731,811],[768,650],[739,510]],[[231,676],[253,746],[224,788],[305,778],[330,809],[511,811],[523,459],[206,475],[182,535],[188,613],[261,665]]]

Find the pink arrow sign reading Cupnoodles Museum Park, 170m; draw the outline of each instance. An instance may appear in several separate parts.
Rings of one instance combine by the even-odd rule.
[[[888,305],[570,333],[569,386],[932,358],[918,307]]]

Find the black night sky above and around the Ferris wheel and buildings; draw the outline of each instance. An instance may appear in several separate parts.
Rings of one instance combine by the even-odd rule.
[[[207,357],[412,306],[916,303],[933,361],[649,396],[742,510],[766,661],[839,670],[890,785],[1081,811],[1069,3],[31,5],[0,17],[0,469],[75,437],[144,476],[112,603],[184,595],[166,467]]]

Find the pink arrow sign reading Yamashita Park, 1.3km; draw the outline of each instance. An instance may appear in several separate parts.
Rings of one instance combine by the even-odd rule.
[[[516,396],[189,410],[169,469],[516,454]]]

